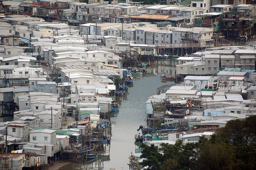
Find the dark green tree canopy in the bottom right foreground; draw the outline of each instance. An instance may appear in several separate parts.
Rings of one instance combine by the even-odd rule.
[[[148,170],[186,169],[256,169],[256,115],[228,121],[209,140],[204,136],[196,143],[174,145],[142,144],[145,158],[140,164]]]

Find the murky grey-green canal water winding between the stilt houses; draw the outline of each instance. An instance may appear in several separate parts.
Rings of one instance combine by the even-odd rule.
[[[91,165],[78,165],[77,163],[60,168],[60,170],[84,170],[116,168],[129,169],[128,156],[135,151],[134,135],[140,125],[145,124],[146,104],[148,97],[156,95],[157,87],[173,84],[174,82],[161,82],[161,74],[174,74],[175,60],[158,61],[154,68],[148,69],[145,77],[134,77],[133,87],[128,89],[126,97],[119,97],[119,113],[111,117],[112,137],[110,144],[110,160],[97,161]]]

